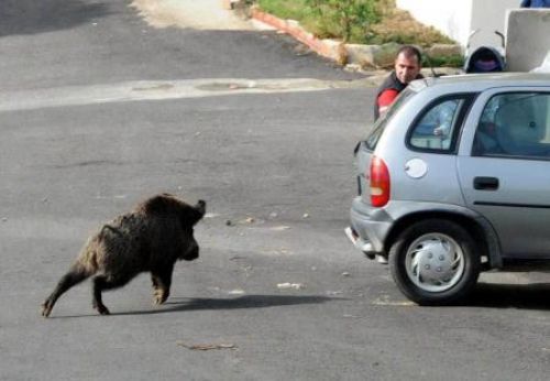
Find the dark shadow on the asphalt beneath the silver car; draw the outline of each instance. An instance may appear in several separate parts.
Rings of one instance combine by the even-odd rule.
[[[550,309],[550,283],[480,283],[468,305],[492,308]]]

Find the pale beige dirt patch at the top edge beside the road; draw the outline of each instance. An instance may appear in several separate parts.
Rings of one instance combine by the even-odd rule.
[[[249,22],[222,9],[220,0],[133,0],[132,7],[155,28],[252,30]]]

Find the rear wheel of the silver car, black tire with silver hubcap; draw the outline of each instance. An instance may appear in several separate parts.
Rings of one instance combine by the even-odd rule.
[[[427,219],[405,229],[389,249],[389,271],[399,290],[419,305],[449,305],[475,286],[477,244],[459,224]]]

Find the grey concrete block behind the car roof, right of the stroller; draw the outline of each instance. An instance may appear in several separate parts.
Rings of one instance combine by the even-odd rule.
[[[521,9],[509,12],[506,30],[508,72],[538,67],[550,51],[550,9]]]

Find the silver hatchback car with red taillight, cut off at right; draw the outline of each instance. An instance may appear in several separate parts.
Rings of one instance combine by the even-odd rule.
[[[421,305],[550,269],[550,75],[411,83],[355,150],[348,237]]]

